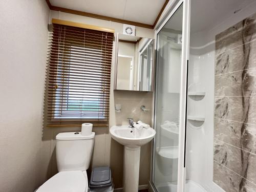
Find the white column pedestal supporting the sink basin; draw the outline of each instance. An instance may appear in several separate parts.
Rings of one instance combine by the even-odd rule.
[[[140,146],[124,146],[123,156],[123,191],[138,192],[140,169]]]

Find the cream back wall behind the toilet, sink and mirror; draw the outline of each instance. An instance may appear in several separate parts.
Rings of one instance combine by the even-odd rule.
[[[111,21],[73,15],[69,13],[51,11],[51,18],[58,18],[63,20],[71,20],[85,24],[97,25],[102,27],[114,28],[115,32],[122,33],[123,24]],[[136,35],[141,37],[154,37],[154,31],[150,29],[136,27]],[[115,52],[115,50],[113,49]],[[114,53],[113,53],[114,55]],[[152,109],[152,93],[141,93],[131,91],[113,91],[114,83],[114,57],[112,62],[111,72],[111,95],[110,95],[110,127],[116,124],[127,124],[127,118],[131,117],[134,120],[142,120],[146,123],[151,123],[151,113],[144,113],[140,110],[143,104],[148,109]],[[115,112],[114,103],[119,103],[122,106],[121,112]],[[44,130],[42,155],[42,170],[47,170],[47,177],[51,177],[57,173],[56,156],[55,156],[55,136],[59,132],[79,131],[78,127],[47,127]],[[91,165],[103,166],[108,165],[112,168],[115,188],[122,187],[123,174],[123,146],[111,139],[109,134],[109,127],[94,127],[93,131],[96,133],[95,146]],[[140,177],[139,184],[144,185],[148,183],[150,178],[150,156],[151,145],[147,144],[141,148],[140,159]],[[89,170],[90,172],[90,170]]]

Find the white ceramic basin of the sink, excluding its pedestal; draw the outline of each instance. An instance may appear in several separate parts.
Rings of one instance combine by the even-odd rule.
[[[112,126],[110,134],[113,139],[122,145],[135,148],[150,142],[156,135],[156,131],[151,127],[138,130],[128,125]]]

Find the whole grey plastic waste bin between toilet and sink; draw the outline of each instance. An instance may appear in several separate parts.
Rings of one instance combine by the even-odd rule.
[[[112,192],[114,184],[110,167],[94,167],[89,183],[90,192]]]

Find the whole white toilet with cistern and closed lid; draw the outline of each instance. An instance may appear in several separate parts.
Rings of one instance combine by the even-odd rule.
[[[85,192],[88,190],[86,170],[93,152],[95,133],[59,133],[56,136],[58,172],[42,184],[36,192]]]

